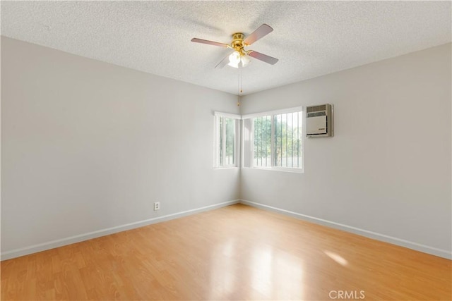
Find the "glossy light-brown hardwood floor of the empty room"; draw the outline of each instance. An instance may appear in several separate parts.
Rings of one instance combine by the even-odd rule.
[[[237,204],[1,262],[1,300],[451,300],[451,272]]]

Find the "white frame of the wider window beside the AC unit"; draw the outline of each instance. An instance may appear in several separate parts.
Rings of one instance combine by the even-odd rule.
[[[300,112],[302,117],[301,122],[301,128],[302,133],[300,135],[300,140],[302,141],[301,147],[299,149],[299,152],[301,152],[301,168],[299,167],[283,167],[283,166],[275,166],[275,125],[274,125],[274,118],[276,115],[279,114],[285,114],[285,113],[297,113]],[[254,166],[254,118],[263,117],[263,116],[270,116],[271,120],[271,139],[270,139],[270,166]],[[305,126],[305,118],[304,118],[304,107],[303,106],[297,106],[292,107],[288,109],[279,109],[279,110],[273,110],[273,111],[265,111],[260,113],[251,113],[246,114],[242,116],[242,123],[245,122],[246,119],[249,119],[251,122],[251,129],[249,133],[250,141],[249,141],[249,149],[242,148],[242,158],[244,157],[245,152],[249,152],[249,166],[244,166],[244,160],[242,160],[242,168],[254,168],[254,169],[261,169],[266,171],[286,171],[286,172],[292,172],[292,173],[304,173],[304,130],[306,128]],[[242,125],[242,130],[245,130],[245,126]],[[242,133],[242,137],[245,137],[244,133]],[[242,143],[242,145],[245,145]]]

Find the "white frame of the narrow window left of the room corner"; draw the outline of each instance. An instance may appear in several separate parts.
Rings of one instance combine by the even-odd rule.
[[[225,168],[240,168],[240,137],[241,133],[241,123],[240,119],[242,116],[232,113],[223,113],[214,111],[214,154],[213,154],[213,168],[225,169]],[[221,118],[228,118],[234,120],[234,164],[225,164],[225,162],[221,162],[221,159],[225,159],[225,156],[221,158],[220,156],[220,120]],[[226,127],[222,127],[222,137],[226,135]],[[222,140],[222,154],[225,154],[226,150],[226,140]]]

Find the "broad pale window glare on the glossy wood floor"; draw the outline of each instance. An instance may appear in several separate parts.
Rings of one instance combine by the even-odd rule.
[[[303,262],[290,252],[267,244],[251,250],[239,250],[231,238],[217,245],[210,257],[210,300],[227,295],[230,299],[302,300],[304,297]],[[221,254],[219,256],[219,254]],[[237,266],[237,256],[243,258]]]

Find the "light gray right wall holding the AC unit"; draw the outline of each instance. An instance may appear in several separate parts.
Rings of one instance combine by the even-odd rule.
[[[304,173],[244,168],[242,199],[451,257],[451,80],[446,44],[242,97],[242,114],[335,106]]]

